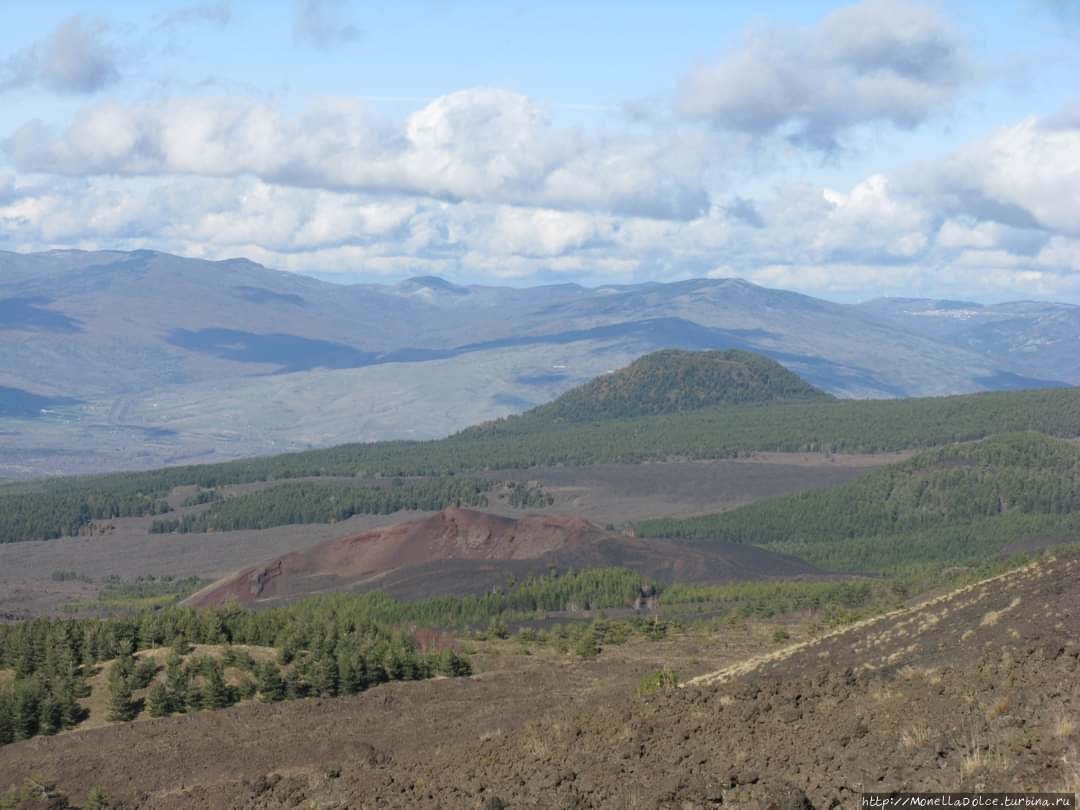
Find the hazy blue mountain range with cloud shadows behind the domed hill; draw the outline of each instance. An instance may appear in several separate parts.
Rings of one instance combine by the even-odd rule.
[[[949,314],[921,314],[931,305]],[[840,396],[1076,383],[1078,312],[850,307],[737,280],[336,285],[245,259],[0,253],[0,475],[437,436],[669,348],[759,351]]]

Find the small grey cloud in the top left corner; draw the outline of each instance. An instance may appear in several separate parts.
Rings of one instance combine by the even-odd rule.
[[[107,27],[71,17],[43,41],[0,63],[0,91],[44,87],[89,94],[120,78],[117,53],[106,42]]]

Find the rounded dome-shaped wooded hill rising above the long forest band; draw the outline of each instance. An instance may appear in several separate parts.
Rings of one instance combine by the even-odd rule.
[[[585,422],[724,405],[832,399],[760,354],[672,349],[646,354],[503,423]]]

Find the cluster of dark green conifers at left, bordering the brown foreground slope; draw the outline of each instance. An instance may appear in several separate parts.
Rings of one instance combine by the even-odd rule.
[[[276,701],[351,694],[390,680],[468,675],[467,659],[453,651],[424,652],[413,635],[335,605],[298,605],[248,613],[239,608],[195,612],[147,611],[136,619],[39,619],[0,626],[0,669],[13,680],[0,687],[0,745],[53,734],[85,719],[80,699],[103,661],[109,666],[108,719],[221,708],[257,696]],[[248,665],[242,651],[222,661],[177,650],[189,643],[275,647],[276,662]],[[138,650],[171,646],[164,667]],[[225,681],[225,667],[251,677]],[[248,684],[249,681],[249,684]],[[149,687],[145,700],[135,693]]]

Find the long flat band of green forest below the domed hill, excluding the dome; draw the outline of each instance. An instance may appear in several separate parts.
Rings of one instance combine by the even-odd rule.
[[[720,406],[525,430],[489,423],[432,442],[320,450],[82,478],[0,485],[0,542],[75,534],[94,521],[160,514],[183,485],[215,487],[303,476],[441,476],[552,464],[720,459],[757,451],[880,453],[996,433],[1080,437],[1080,389],[920,400],[811,400]]]

